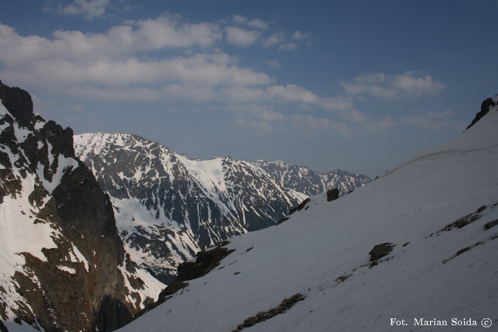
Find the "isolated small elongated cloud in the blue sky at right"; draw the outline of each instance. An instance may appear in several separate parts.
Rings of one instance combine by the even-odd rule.
[[[418,97],[423,94],[436,95],[446,87],[435,81],[429,75],[415,76],[415,72],[405,72],[398,75],[383,73],[361,75],[352,83],[341,81],[340,85],[348,95],[372,96],[382,100],[398,100],[405,97]]]

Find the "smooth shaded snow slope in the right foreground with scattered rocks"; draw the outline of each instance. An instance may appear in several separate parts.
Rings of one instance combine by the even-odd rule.
[[[332,202],[318,195],[289,220],[183,264],[211,271],[181,272],[164,303],[119,331],[498,326],[497,101],[458,138],[368,186]]]

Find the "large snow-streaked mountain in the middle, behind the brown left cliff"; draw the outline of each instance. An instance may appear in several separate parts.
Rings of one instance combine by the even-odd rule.
[[[306,198],[248,162],[191,160],[136,135],[75,135],[74,146],[109,193],[131,258],[164,283],[199,250],[274,225]]]

